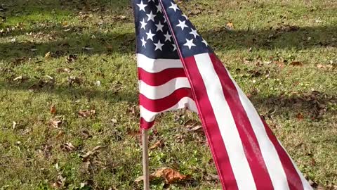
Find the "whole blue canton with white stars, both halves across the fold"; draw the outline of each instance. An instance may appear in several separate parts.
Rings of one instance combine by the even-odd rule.
[[[160,0],[161,1],[161,0]],[[169,30],[173,29],[183,57],[213,52],[200,36],[186,15],[173,0],[161,1],[169,20],[164,17],[164,8],[159,0],[134,0],[137,53],[150,58],[178,59],[176,45]]]

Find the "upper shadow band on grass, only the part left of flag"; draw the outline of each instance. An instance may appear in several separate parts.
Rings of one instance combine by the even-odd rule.
[[[81,33],[83,28],[75,27],[72,28],[72,31],[64,32],[63,30],[60,28],[40,30],[44,34],[50,32],[51,37],[58,38],[58,40],[49,42],[0,43],[0,60],[12,61],[14,58],[43,57],[47,52],[56,56],[79,53],[93,55],[136,52],[134,33]],[[34,30],[34,32],[37,31],[39,30]]]

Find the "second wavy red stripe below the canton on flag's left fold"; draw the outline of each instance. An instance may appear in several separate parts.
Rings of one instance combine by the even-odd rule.
[[[146,96],[140,94],[139,103],[140,106],[143,106],[147,110],[150,110],[152,112],[161,112],[176,105],[180,101],[180,99],[183,99],[185,97],[193,99],[190,88],[176,89],[176,91],[173,91],[173,93],[169,96],[166,96],[163,99],[156,100],[147,99]]]

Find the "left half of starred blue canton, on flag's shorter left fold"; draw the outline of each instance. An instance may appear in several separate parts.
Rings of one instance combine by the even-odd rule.
[[[158,0],[134,0],[137,53],[149,58],[179,59]]]

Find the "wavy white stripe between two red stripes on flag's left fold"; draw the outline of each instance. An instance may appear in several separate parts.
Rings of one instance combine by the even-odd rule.
[[[152,100],[165,98],[177,89],[190,87],[190,82],[188,82],[187,77],[174,78],[160,86],[151,86],[141,80],[139,81],[140,94],[143,94],[147,99]]]

